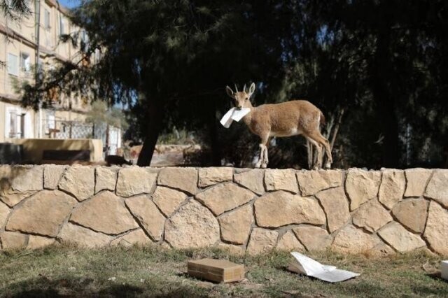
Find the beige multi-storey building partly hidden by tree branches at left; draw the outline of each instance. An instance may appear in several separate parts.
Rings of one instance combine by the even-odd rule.
[[[57,0],[29,1],[31,15],[20,22],[0,15],[0,143],[14,139],[103,139],[98,127],[85,123],[90,104],[74,95],[55,94],[51,109],[34,111],[20,106],[18,83],[34,82],[35,67],[52,69],[57,61],[78,61],[71,43],[59,42],[62,34],[78,31],[69,21],[69,10]],[[37,25],[38,24],[38,25]],[[86,34],[80,34],[85,38]],[[111,147],[120,146],[120,131],[109,129]],[[109,153],[114,153],[110,150]]]

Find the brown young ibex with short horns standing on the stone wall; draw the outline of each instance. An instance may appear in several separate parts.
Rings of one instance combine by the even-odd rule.
[[[305,100],[286,101],[280,104],[262,104],[254,107],[251,104],[251,96],[255,92],[255,83],[246,91],[235,92],[229,86],[225,87],[228,96],[235,99],[237,108],[249,108],[251,111],[244,116],[243,121],[253,134],[260,136],[260,158],[255,167],[265,168],[269,162],[267,146],[273,136],[297,136],[302,134],[317,150],[317,159],[314,169],[322,167],[322,147],[325,148],[327,162],[325,168],[330,169],[332,163],[330,143],[320,132],[320,125],[325,124],[325,118],[321,110],[314,104]]]

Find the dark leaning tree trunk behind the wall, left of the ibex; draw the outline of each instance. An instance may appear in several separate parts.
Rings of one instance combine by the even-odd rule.
[[[153,159],[153,153],[155,144],[159,138],[160,130],[162,129],[163,120],[163,106],[162,102],[158,99],[148,100],[148,118],[146,137],[144,139],[143,147],[137,160],[139,166],[149,166],[151,159]]]

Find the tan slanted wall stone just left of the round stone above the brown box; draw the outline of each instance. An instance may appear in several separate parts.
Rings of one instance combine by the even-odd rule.
[[[155,241],[162,237],[165,217],[147,195],[126,199],[126,206]]]

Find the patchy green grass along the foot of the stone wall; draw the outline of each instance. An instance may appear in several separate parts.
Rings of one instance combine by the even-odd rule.
[[[0,255],[0,297],[447,297],[425,252],[369,259],[363,255],[308,253],[323,264],[360,273],[342,283],[292,274],[288,253],[230,255],[223,250],[159,247],[78,249],[53,246]],[[246,280],[218,284],[186,275],[186,262],[219,257],[246,265]]]

